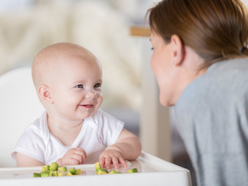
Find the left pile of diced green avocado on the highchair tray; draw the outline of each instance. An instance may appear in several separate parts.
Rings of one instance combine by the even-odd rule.
[[[78,174],[81,174],[81,169],[75,169],[75,167],[72,167],[67,172],[66,167],[59,167],[56,162],[53,162],[50,166],[43,166],[40,173],[33,173],[33,177],[73,176]]]

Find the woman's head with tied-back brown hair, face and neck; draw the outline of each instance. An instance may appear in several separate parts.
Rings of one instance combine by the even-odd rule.
[[[148,13],[151,67],[165,106],[212,63],[248,53],[248,14],[239,0],[163,0]]]

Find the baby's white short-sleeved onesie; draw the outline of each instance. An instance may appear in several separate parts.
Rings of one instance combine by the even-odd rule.
[[[39,119],[27,126],[11,156],[16,159],[16,152],[19,152],[48,165],[62,158],[69,149],[81,147],[87,153],[85,163],[95,163],[105,147],[116,142],[123,126],[123,122],[99,109],[94,115],[84,119],[82,129],[73,144],[65,146],[49,132],[47,114],[44,112]]]

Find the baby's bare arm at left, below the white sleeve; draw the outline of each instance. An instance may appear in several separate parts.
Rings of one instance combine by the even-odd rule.
[[[16,165],[17,167],[32,167],[32,166],[43,166],[44,163],[31,158],[25,154],[16,152]]]

